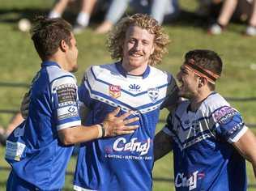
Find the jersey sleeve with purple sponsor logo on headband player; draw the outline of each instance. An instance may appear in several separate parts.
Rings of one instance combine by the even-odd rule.
[[[224,106],[213,112],[215,120],[215,132],[228,142],[237,142],[247,127],[241,117],[241,114],[229,106]]]

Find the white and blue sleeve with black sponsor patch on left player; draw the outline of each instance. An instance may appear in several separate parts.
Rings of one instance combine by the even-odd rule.
[[[57,129],[81,125],[76,80],[73,76],[56,79],[52,85]]]

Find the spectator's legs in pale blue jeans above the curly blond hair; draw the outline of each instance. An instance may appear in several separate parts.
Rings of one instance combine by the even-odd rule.
[[[175,19],[179,13],[177,0],[113,0],[105,20],[96,28],[96,33],[109,32],[130,6],[134,12],[151,15],[160,24]]]

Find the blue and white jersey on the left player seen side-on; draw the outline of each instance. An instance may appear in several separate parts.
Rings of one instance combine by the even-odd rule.
[[[58,141],[58,130],[81,125],[73,74],[43,62],[30,89],[28,118],[6,141],[6,160],[19,178],[38,189],[61,189],[73,146]]]

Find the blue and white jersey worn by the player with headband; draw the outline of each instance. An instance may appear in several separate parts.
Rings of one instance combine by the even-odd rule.
[[[176,190],[246,190],[245,159],[230,144],[246,129],[241,114],[217,93],[196,112],[188,100],[179,104],[163,129],[173,139]]]

